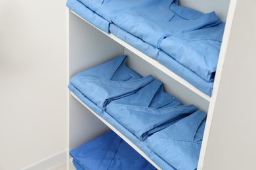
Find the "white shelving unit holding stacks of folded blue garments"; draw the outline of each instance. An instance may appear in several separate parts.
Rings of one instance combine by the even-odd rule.
[[[256,78],[249,79],[255,77],[256,74],[255,69],[253,69],[253,63],[256,63],[256,61],[255,57],[252,57],[252,55],[255,56],[253,50],[256,48],[256,35],[254,33],[256,25],[252,22],[253,17],[247,14],[248,9],[253,11],[256,3],[250,0],[181,0],[180,2],[186,7],[202,12],[215,10],[221,20],[226,21],[212,97],[200,92],[155,59],[146,56],[114,35],[108,35],[96,29],[70,10],[68,10],[68,77],[71,78],[79,71],[89,69],[108,59],[127,54],[127,65],[131,69],[135,69],[142,75],[153,75],[164,83],[166,92],[177,97],[183,104],[194,104],[208,113],[198,169],[236,169],[238,167],[239,169],[252,169],[254,167],[253,163],[248,163],[248,161],[245,161],[244,156],[236,155],[235,152],[232,152],[232,149],[250,156],[247,160],[253,160],[253,156],[255,158],[256,127],[252,126],[252,124],[256,122],[256,112],[254,111],[255,114],[246,114],[248,116],[246,120],[250,123],[250,126],[245,124],[245,118],[242,117],[241,112],[243,110],[245,113],[253,112],[252,101],[255,98],[253,95],[256,95],[254,89]],[[244,22],[242,20],[243,17],[251,18],[251,22]],[[245,31],[247,30],[246,27],[240,26],[239,22],[245,24],[251,33]],[[245,34],[244,37],[242,33]],[[240,39],[244,40],[244,42],[238,41]],[[240,61],[239,59],[242,56],[238,56],[238,54],[241,54],[242,51],[246,59]],[[243,67],[240,66],[241,63]],[[246,65],[249,67],[246,67]],[[234,74],[239,75],[239,77],[234,76]],[[238,80],[238,78],[240,79]],[[239,99],[236,99],[236,93],[239,93]],[[135,144],[131,143],[123,134],[119,133],[108,122],[84,105],[73,93],[68,92],[68,95],[68,109],[70,112],[68,115],[69,150],[91,141],[110,128],[133,146],[150,163],[158,167]],[[251,101],[245,102],[245,99],[242,100],[241,97],[251,99]],[[247,103],[251,105],[246,108],[240,107],[241,104],[245,105]],[[241,121],[243,121],[243,124],[241,124],[239,132],[246,131],[242,135],[232,131],[232,128],[238,129],[237,125]],[[248,127],[251,128],[248,129]],[[253,127],[255,130],[253,130]],[[224,139],[224,142],[220,142],[218,135]],[[238,149],[235,144],[238,141],[242,144],[245,142],[243,139],[236,139],[236,135],[241,135],[243,138],[248,137],[251,141],[246,144],[250,145],[244,146],[244,150]],[[236,143],[231,143],[232,140],[236,140]],[[229,145],[227,146],[226,143],[229,143]],[[247,163],[238,163],[239,161]],[[69,163],[69,161],[67,162]]]

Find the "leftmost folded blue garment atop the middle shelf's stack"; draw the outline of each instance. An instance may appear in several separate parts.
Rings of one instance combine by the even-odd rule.
[[[125,58],[125,55],[119,56],[82,71],[70,80],[70,84],[104,109],[112,100],[131,95],[154,80],[151,75],[142,77],[126,67]]]

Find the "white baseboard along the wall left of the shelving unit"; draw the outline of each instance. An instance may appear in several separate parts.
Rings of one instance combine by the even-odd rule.
[[[58,165],[62,162],[66,161],[66,150],[62,150],[61,152],[58,152],[52,156],[49,156],[48,158],[45,158],[41,161],[37,161],[36,163],[33,163],[32,165],[29,165],[28,167],[24,167],[20,170],[45,170],[50,169],[51,167],[54,167],[55,165]]]

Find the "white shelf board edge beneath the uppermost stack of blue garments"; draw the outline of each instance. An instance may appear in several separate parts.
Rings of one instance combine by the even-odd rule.
[[[72,13],[75,14],[74,11],[71,10]],[[78,16],[79,18],[81,18],[81,16],[75,14],[76,16]],[[87,20],[81,18],[82,20],[84,20],[85,22],[87,22]],[[93,27],[95,27],[95,25],[87,22],[88,24],[92,25]],[[98,29],[97,27],[95,27],[96,29]],[[104,31],[98,29],[100,32],[104,33],[106,36],[110,37],[111,39],[113,39],[114,41],[118,42],[119,44],[121,44],[123,47],[127,48],[128,50],[130,50],[131,52],[133,52],[134,54],[136,54],[137,56],[139,56],[140,58],[144,59],[145,61],[147,61],[148,63],[150,63],[151,65],[154,65],[154,67],[160,69],[160,71],[162,71],[163,73],[165,73],[166,75],[170,76],[171,78],[173,78],[174,80],[177,80],[177,82],[181,83],[183,86],[185,86],[186,88],[188,88],[189,90],[191,90],[192,92],[200,95],[201,97],[203,97],[203,99],[207,100],[207,101],[211,101],[211,97],[209,97],[208,95],[206,95],[205,93],[201,92],[200,90],[198,90],[197,88],[195,88],[192,84],[190,84],[189,82],[187,82],[186,80],[184,80],[184,78],[181,78],[181,76],[176,75],[175,73],[173,73],[173,71],[167,69],[167,67],[165,67],[164,65],[162,65],[161,63],[159,63],[156,59],[150,58],[149,56],[147,56],[146,54],[140,52],[139,50],[137,50],[136,48],[134,48],[133,46],[131,46],[130,44],[127,44],[127,42],[122,41],[121,39],[117,38],[115,35],[113,35],[112,33],[108,34],[105,33]]]

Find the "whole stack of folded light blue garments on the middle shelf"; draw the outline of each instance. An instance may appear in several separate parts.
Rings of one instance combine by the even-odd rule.
[[[182,161],[196,169],[206,114],[194,105],[182,105],[153,76],[143,77],[127,67],[125,58],[78,73],[70,80],[70,90],[161,169],[177,169]],[[181,143],[171,145],[175,140]],[[171,154],[183,160],[170,161]]]

